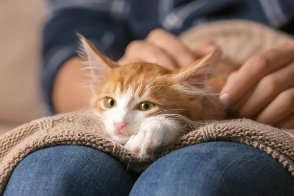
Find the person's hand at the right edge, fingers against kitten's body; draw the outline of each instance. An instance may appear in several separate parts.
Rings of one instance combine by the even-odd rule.
[[[294,42],[250,58],[229,76],[220,98],[241,117],[294,128]]]

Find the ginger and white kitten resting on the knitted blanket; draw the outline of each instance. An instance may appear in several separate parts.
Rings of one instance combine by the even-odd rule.
[[[222,77],[209,74],[220,61],[220,49],[171,71],[142,62],[120,66],[80,40],[91,70],[92,107],[111,138],[142,159],[170,145],[184,121],[225,119],[216,93],[236,66],[222,65]]]

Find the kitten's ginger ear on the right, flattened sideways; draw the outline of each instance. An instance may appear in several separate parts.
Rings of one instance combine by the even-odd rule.
[[[204,88],[209,74],[215,70],[213,64],[221,58],[220,47],[212,50],[195,63],[174,70],[176,81],[188,83],[196,88]]]

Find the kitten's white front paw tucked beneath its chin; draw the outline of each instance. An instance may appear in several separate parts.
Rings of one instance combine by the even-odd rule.
[[[132,136],[124,147],[137,153],[141,160],[147,159],[155,150],[174,141],[178,126],[179,123],[174,120],[150,117],[141,124],[138,134]]]

